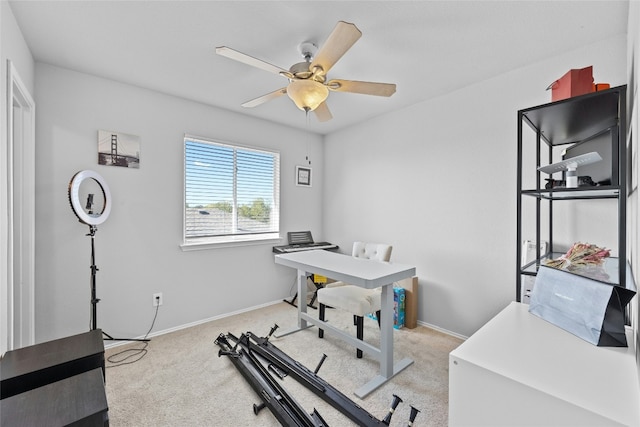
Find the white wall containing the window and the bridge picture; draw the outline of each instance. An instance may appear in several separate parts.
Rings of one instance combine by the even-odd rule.
[[[36,340],[86,331],[90,238],[68,200],[71,177],[92,169],[113,197],[95,237],[98,326],[116,337],[144,335],[162,292],[155,331],[289,295],[295,273],[276,266],[272,244],[182,252],[184,133],[281,153],[281,230],[322,237],[322,180],[294,185],[309,150],[323,169],[321,137],[114,81],[36,64]],[[302,114],[302,113],[301,113]],[[99,129],[141,138],[140,169],[97,164]],[[293,311],[292,311],[293,314]]]

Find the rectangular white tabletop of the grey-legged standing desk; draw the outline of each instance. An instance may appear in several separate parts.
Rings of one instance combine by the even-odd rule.
[[[276,255],[275,262],[369,289],[389,285],[416,274],[415,267],[408,265],[372,261],[324,250]]]

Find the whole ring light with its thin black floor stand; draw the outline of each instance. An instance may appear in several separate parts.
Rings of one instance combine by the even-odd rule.
[[[87,194],[86,201],[84,202],[80,199],[80,186],[85,180],[89,179],[94,180],[100,187],[103,202],[100,212],[94,211],[95,193]],[[73,178],[71,178],[71,182],[69,182],[69,202],[80,222],[89,226],[89,234],[87,234],[87,236],[91,237],[91,330],[96,330],[98,329],[98,302],[100,302],[100,299],[96,296],[96,272],[98,271],[98,267],[96,267],[94,238],[98,230],[98,225],[105,222],[111,213],[111,193],[109,192],[107,183],[98,173],[84,170],[76,173]],[[102,331],[102,334],[106,337],[104,338],[105,340],[149,341],[148,339],[113,338],[104,331]]]

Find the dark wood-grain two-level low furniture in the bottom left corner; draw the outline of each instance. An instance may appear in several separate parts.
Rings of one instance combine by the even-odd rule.
[[[8,351],[0,359],[0,425],[108,425],[104,375],[100,329]]]

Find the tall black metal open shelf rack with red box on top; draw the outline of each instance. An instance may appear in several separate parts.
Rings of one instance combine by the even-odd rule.
[[[554,218],[556,214],[553,209],[554,201],[558,201],[558,203],[562,201],[562,203],[571,205],[571,202],[565,201],[610,199],[614,203],[603,205],[606,205],[607,221],[608,224],[611,224],[608,227],[615,225],[617,228],[617,243],[612,250],[620,260],[623,260],[622,262],[626,263],[626,90],[626,86],[617,86],[608,90],[575,96],[518,111],[517,260],[521,259],[522,243],[525,240],[545,241],[549,248],[572,243],[569,241],[554,242],[554,229],[557,228],[556,226],[562,228],[562,221],[566,220],[564,217],[560,217],[557,221]],[[535,138],[531,138],[530,130],[526,131],[527,128],[533,131]],[[532,143],[535,145],[531,146]],[[573,144],[573,146],[562,147],[569,144]],[[555,157],[561,154],[563,148],[566,148],[567,151],[563,154],[563,157],[566,156],[574,160],[581,155],[584,156],[593,152],[598,153],[606,161],[604,164],[606,167],[594,169],[597,174],[603,175],[603,177],[598,176],[596,181],[605,182],[604,177],[609,174],[609,184],[577,188],[543,188],[545,184],[541,179],[543,175],[541,175],[540,169],[542,167],[544,171],[544,168],[548,168],[551,165],[567,162],[567,158],[560,162],[554,161]],[[572,150],[572,153],[568,153],[569,150]],[[534,161],[535,164],[532,165],[531,163]],[[534,167],[532,168],[531,166]],[[535,174],[532,174],[531,172],[534,170]],[[526,174],[524,171],[527,171]],[[583,170],[582,174],[590,175],[587,172]],[[529,185],[533,183],[535,187],[523,188],[524,182]],[[535,206],[533,203],[523,203],[523,199],[527,197],[536,199]],[[541,203],[542,200],[547,202]],[[578,204],[582,205],[583,203]],[[525,210],[529,213],[527,214],[527,221],[523,222]],[[535,214],[535,222],[531,220],[532,212]],[[560,210],[560,212],[563,211]],[[614,214],[617,219],[616,224],[613,224],[611,218],[609,218]],[[524,229],[525,226],[526,230]],[[579,226],[583,225],[576,225],[576,229],[572,229],[573,238],[580,239],[579,236],[583,234],[577,228]],[[567,238],[569,237],[564,236],[564,239]],[[554,243],[556,244],[554,245]],[[522,280],[523,277],[529,278],[526,286],[532,286],[530,279],[537,275],[540,264],[546,259],[555,259],[562,255],[562,253],[549,254],[537,262],[527,264],[526,268],[523,268],[518,261],[516,269],[516,301],[522,300],[522,286],[525,283]],[[631,286],[633,281],[628,268],[625,268],[624,265],[618,268],[618,258],[608,258],[601,271],[594,269],[591,273],[596,276],[591,278],[617,286]],[[583,275],[587,277],[593,276],[589,274]]]

